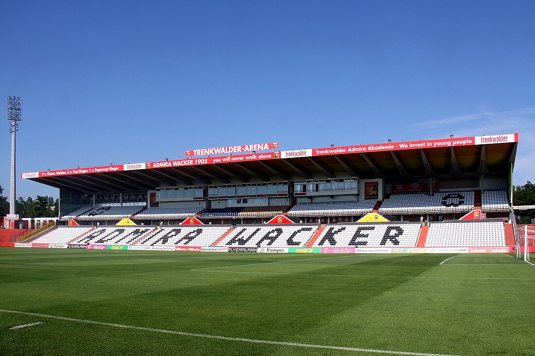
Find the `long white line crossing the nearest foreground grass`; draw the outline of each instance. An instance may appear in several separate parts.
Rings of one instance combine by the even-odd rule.
[[[219,339],[219,340],[227,340],[227,341],[240,341],[240,342],[255,343],[255,344],[270,344],[270,345],[295,346],[295,347],[310,347],[312,349],[330,349],[330,350],[343,350],[343,351],[356,351],[356,352],[385,353],[385,354],[392,354],[392,355],[408,355],[408,356],[461,356],[461,355],[450,355],[450,354],[443,354],[443,353],[425,353],[425,352],[406,352],[406,351],[361,349],[360,347],[302,344],[302,343],[291,343],[291,342],[285,342],[285,341],[272,341],[272,340],[261,340],[261,339],[248,339],[248,338],[242,338],[242,337],[228,337],[228,336],[220,336],[220,335],[196,334],[195,332],[155,329],[155,328],[139,327],[139,326],[133,326],[133,325],[114,324],[114,323],[106,323],[106,322],[101,322],[101,321],[93,321],[93,320],[85,320],[85,319],[74,319],[74,318],[66,318],[65,316],[37,314],[37,313],[20,312],[20,311],[5,310],[5,309],[0,309],[0,312],[13,313],[13,314],[22,314],[22,315],[33,315],[33,316],[40,316],[41,318],[50,318],[50,319],[58,319],[58,320],[66,320],[66,321],[75,321],[75,322],[79,322],[79,323],[96,324],[96,325],[110,326],[110,327],[116,327],[116,328],[135,329],[135,330],[144,330],[144,331],[153,331],[153,332],[163,332],[165,334],[202,337],[202,338],[208,338],[208,339]]]

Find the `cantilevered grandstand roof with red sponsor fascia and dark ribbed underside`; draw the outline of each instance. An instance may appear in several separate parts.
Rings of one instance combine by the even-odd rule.
[[[504,175],[515,161],[517,144],[518,134],[292,151],[277,151],[278,143],[273,143],[210,149],[234,152],[213,157],[31,172],[22,173],[21,177],[78,194],[106,194],[168,186],[310,180],[318,176],[409,181]],[[258,152],[253,148],[264,150]],[[249,149],[248,154],[242,154]]]

